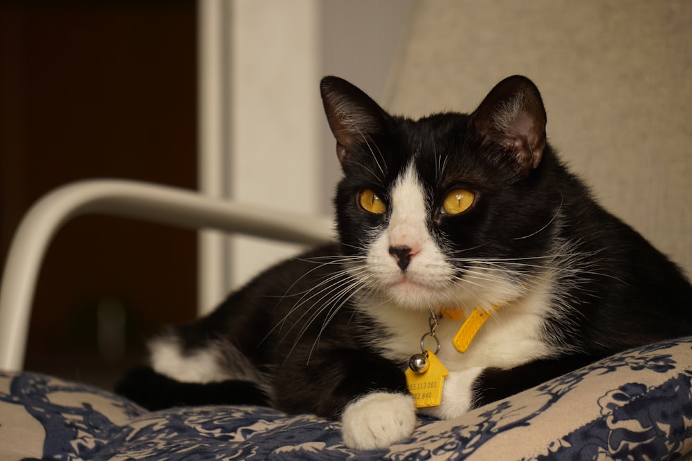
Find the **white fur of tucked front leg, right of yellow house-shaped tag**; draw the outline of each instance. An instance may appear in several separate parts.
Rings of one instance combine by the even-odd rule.
[[[469,368],[464,371],[450,371],[442,384],[442,401],[439,406],[421,408],[421,413],[438,420],[451,420],[464,415],[473,404],[473,384],[483,368]]]

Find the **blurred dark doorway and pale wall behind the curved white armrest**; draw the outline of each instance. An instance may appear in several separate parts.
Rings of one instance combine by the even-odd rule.
[[[0,261],[35,200],[84,178],[329,214],[338,166],[320,77],[381,97],[412,3],[1,2]],[[210,112],[221,126],[200,140]],[[198,261],[194,232],[102,216],[66,225],[39,276],[25,368],[112,386],[145,337],[296,251],[208,237]]]

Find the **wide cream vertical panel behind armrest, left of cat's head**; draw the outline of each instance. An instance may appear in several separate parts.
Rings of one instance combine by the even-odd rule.
[[[230,196],[316,214],[320,162],[317,0],[234,0],[230,9]],[[235,237],[240,285],[295,247]]]

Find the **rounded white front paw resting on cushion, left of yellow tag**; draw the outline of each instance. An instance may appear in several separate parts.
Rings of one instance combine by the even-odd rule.
[[[341,416],[346,446],[357,450],[379,449],[410,436],[418,422],[413,398],[408,394],[373,392],[349,404]]]

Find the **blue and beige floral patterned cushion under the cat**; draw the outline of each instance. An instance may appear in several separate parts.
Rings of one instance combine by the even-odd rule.
[[[692,338],[623,352],[408,440],[354,451],[340,424],[263,407],[149,412],[97,388],[0,373],[1,460],[679,460]]]

